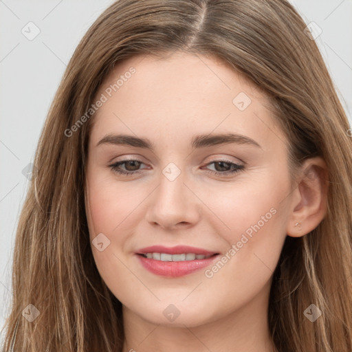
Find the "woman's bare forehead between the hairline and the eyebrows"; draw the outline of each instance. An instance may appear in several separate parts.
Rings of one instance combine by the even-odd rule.
[[[117,129],[168,133],[170,141],[191,138],[195,130],[248,135],[277,127],[263,91],[214,56],[133,56],[115,65],[100,86],[97,97],[102,95],[106,102],[94,115],[93,129],[100,137]]]

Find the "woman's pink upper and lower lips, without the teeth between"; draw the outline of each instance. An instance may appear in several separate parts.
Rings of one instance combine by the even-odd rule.
[[[155,259],[148,259],[142,254],[146,253],[166,253],[166,254],[204,254],[206,256],[211,254],[217,254],[215,252],[209,252],[201,248],[190,247],[188,245],[177,245],[176,247],[166,248],[162,245],[153,245],[151,247],[141,248],[136,252],[137,258],[140,260],[142,266],[160,276],[166,277],[179,277],[190,274],[197,270],[207,267],[217,258],[217,255],[212,255],[208,259],[195,259],[193,261],[157,261]]]

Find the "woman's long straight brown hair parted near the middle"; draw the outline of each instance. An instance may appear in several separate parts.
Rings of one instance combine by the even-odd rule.
[[[67,66],[36,151],[17,229],[4,351],[122,350],[122,305],[96,269],[85,214],[94,114],[65,131],[89,110],[115,63],[175,51],[221,58],[261,87],[289,140],[290,165],[325,160],[327,216],[309,234],[287,236],[268,321],[280,352],[352,351],[352,142],[305,27],[285,0],[120,0],[98,17]],[[22,314],[30,304],[39,311],[32,322]],[[315,322],[303,314],[311,304],[322,311]]]

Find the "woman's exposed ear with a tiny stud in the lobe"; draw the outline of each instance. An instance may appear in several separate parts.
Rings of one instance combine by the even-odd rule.
[[[305,160],[293,192],[288,236],[300,237],[314,230],[327,214],[328,171],[324,159]]]

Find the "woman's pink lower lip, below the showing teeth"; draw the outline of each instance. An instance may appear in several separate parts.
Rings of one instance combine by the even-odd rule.
[[[137,254],[140,263],[146,270],[156,275],[173,278],[201,270],[203,267],[210,265],[217,256],[211,256],[207,259],[195,259],[194,261],[156,261]]]

